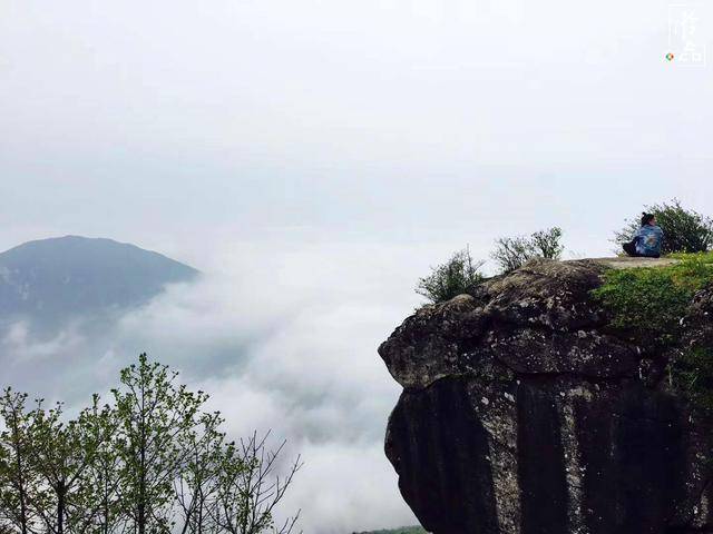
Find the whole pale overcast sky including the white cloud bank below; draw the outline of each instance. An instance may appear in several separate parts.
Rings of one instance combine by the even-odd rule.
[[[713,8],[692,9],[712,50]],[[109,237],[206,274],[99,337],[19,325],[11,376],[81,395],[149,350],[234,432],[303,454],[305,532],[413,523],[375,348],[418,277],[551,226],[566,257],[607,255],[673,197],[713,214],[713,67],[665,59],[672,20],[658,0],[0,0],[0,249]]]

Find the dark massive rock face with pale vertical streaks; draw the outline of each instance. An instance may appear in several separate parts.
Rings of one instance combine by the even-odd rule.
[[[529,263],[381,345],[404,388],[385,452],[427,531],[713,532],[711,426],[668,390],[665,355],[607,328],[603,269]],[[712,303],[684,340],[713,340]]]

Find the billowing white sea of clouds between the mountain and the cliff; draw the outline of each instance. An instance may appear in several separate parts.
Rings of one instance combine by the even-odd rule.
[[[401,388],[377,347],[421,301],[422,256],[363,243],[235,245],[197,281],[102,327],[76,318],[38,339],[30,324],[10,326],[3,382],[71,411],[147,352],[211,393],[231,436],[272,429],[273,446],[287,441],[285,461],[302,456],[282,513],[301,510],[305,532],[414,524],[383,454]]]

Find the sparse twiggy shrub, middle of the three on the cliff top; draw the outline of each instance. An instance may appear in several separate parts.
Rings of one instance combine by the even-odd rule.
[[[533,258],[559,259],[564,247],[560,245],[560,228],[536,231],[529,237],[505,237],[496,240],[491,257],[502,273],[510,273]]]

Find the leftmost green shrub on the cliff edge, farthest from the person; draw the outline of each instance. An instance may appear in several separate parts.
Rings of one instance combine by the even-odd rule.
[[[442,303],[451,298],[471,293],[482,280],[480,268],[485,261],[473,261],[470,249],[466,247],[455,253],[448,261],[432,267],[432,273],[420,278],[416,293],[431,303]]]

